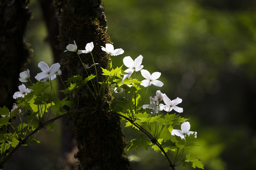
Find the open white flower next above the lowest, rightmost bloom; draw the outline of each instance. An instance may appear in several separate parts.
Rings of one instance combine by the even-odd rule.
[[[171,110],[175,110],[179,113],[182,113],[183,112],[183,108],[180,108],[178,106],[176,106],[177,104],[181,103],[182,102],[182,99],[180,98],[176,98],[174,100],[170,100],[166,94],[163,94],[163,101],[165,102],[165,106],[164,106],[164,110],[169,112]]]

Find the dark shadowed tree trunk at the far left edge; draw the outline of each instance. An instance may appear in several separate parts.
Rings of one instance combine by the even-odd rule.
[[[33,52],[24,39],[30,16],[26,0],[0,1],[0,107],[12,108],[19,73]]]

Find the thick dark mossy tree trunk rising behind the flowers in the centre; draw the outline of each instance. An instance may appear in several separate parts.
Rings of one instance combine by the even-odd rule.
[[[101,67],[107,68],[109,57],[101,51],[101,46],[110,43],[110,38],[106,32],[101,0],[56,0],[55,5],[60,17],[60,49],[64,51],[66,45],[75,40],[78,49],[84,50],[86,43],[93,42],[92,54],[95,62],[99,63],[98,80],[102,82],[104,76],[101,75]],[[76,53],[68,51],[62,57],[62,69],[68,72],[69,77],[87,76]],[[83,63],[93,64],[91,54],[81,54],[81,58]],[[93,69],[91,71],[93,73]],[[75,157],[82,170],[130,170],[124,153],[125,141],[120,118],[109,113],[111,101],[104,100],[110,97],[110,89],[96,96],[97,100],[87,87],[80,89],[77,94],[78,100],[73,95],[76,101],[74,104],[84,111],[71,113],[68,126],[77,141],[79,151]]]

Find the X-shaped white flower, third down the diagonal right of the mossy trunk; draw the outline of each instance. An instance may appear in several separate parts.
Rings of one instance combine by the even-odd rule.
[[[140,85],[143,85],[144,87],[147,87],[149,85],[155,85],[158,87],[162,87],[164,85],[163,82],[156,80],[157,78],[159,78],[161,76],[160,72],[154,72],[152,73],[152,75],[145,69],[140,70],[141,75],[146,78],[146,80],[142,80]]]

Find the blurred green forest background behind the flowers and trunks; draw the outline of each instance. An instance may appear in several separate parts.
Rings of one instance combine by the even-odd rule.
[[[159,80],[165,85],[151,86],[148,96],[161,90],[171,100],[183,99],[180,115],[190,119],[200,144],[190,152],[201,158],[205,170],[256,169],[256,1],[105,0],[104,7],[114,47],[125,51],[113,57],[113,65],[141,54],[144,69],[162,73]],[[37,1],[31,0],[29,8],[34,19],[27,39],[35,51],[29,67],[36,75],[39,61],[52,64],[53,59]],[[136,133],[124,132],[127,140]],[[41,144],[21,148],[6,169],[53,169],[59,130],[39,139]],[[24,151],[28,156],[22,156]],[[128,156],[135,170],[169,170],[165,157],[152,149]],[[17,160],[30,163],[15,165]]]

